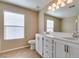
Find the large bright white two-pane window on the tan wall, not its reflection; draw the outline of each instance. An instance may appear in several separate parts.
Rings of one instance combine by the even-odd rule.
[[[24,38],[24,14],[4,11],[4,40]]]

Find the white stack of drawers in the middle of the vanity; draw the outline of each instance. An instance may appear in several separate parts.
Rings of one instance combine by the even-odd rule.
[[[44,38],[44,58],[54,57],[54,40],[52,38]]]

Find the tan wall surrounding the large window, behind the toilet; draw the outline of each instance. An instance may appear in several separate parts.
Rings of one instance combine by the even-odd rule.
[[[12,11],[16,13],[25,14],[25,38],[18,40],[4,40],[3,39],[3,11]],[[35,33],[38,32],[38,13],[29,9],[23,9],[14,5],[0,2],[0,46],[1,50],[17,48],[26,46],[26,41],[34,38]]]

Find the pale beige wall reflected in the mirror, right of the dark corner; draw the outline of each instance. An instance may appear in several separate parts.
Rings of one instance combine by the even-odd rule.
[[[75,17],[63,18],[62,20],[62,32],[75,32]]]

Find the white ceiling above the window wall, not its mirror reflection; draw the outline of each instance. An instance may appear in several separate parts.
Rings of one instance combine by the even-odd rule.
[[[38,11],[44,8],[52,0],[0,0],[0,1]]]

